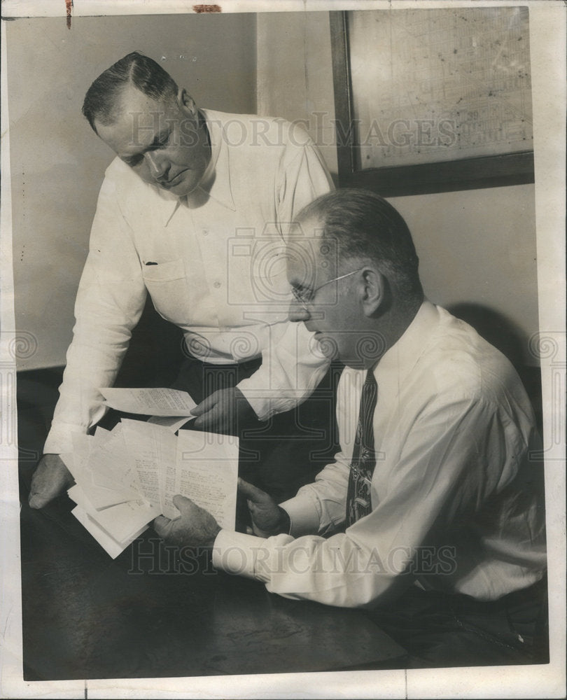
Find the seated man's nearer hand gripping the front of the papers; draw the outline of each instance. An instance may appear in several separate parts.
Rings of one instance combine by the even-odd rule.
[[[159,515],[153,521],[156,533],[170,545],[212,547],[221,531],[214,517],[185,496],[174,496],[173,502],[181,515],[175,520]]]

